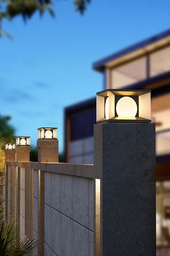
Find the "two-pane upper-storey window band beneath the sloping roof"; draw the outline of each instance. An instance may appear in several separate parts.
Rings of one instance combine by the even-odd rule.
[[[107,88],[123,88],[146,80],[148,77],[170,72],[170,46],[149,54],[150,61],[147,61],[146,58],[146,56],[143,56],[140,59],[113,68],[109,75],[109,81],[107,81],[109,82]],[[150,67],[147,66],[148,64],[150,64]],[[149,74],[147,74],[147,70],[149,70]]]

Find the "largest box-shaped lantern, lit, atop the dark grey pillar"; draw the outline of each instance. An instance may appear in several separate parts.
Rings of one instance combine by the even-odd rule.
[[[151,90],[104,90],[97,93],[97,122],[151,122]]]

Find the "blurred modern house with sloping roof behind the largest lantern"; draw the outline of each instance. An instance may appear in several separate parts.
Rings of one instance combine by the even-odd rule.
[[[105,89],[152,90],[156,122],[156,243],[170,245],[170,30],[94,62]],[[65,109],[66,159],[93,163],[96,99]],[[164,252],[164,256],[167,255]]]

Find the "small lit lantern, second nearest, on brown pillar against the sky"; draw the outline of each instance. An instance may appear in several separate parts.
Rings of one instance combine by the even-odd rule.
[[[41,127],[37,129],[38,140],[57,140],[57,128]]]

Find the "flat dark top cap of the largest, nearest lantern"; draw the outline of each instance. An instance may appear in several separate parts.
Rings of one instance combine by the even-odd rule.
[[[107,90],[102,90],[97,95],[102,95],[102,96],[107,96],[107,93],[113,93],[115,95],[125,95],[125,96],[134,96],[134,95],[143,95],[146,93],[151,93],[151,90],[117,90],[117,89],[107,89]]]

